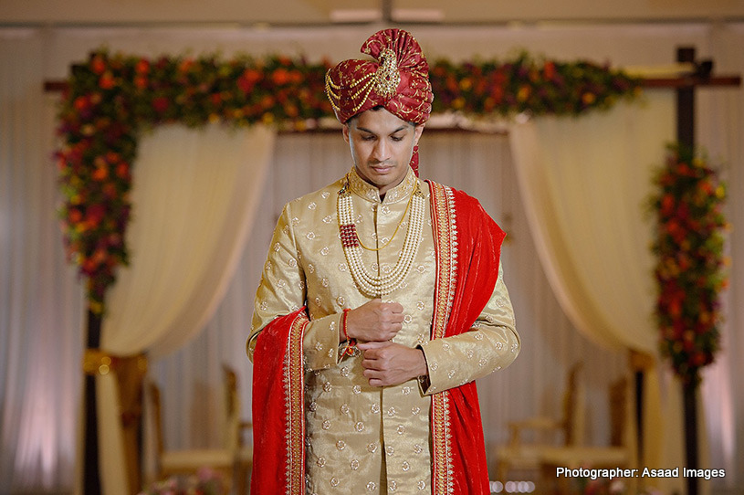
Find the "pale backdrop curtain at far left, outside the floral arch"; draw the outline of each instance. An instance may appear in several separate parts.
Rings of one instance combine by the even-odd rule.
[[[0,493],[68,491],[75,469],[82,290],[58,225],[44,48],[0,31]]]

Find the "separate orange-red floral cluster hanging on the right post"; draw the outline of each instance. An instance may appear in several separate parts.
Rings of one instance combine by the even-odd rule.
[[[655,175],[655,317],[661,353],[683,383],[700,383],[700,370],[720,347],[718,294],[728,286],[723,256],[726,187],[707,160],[671,146]]]

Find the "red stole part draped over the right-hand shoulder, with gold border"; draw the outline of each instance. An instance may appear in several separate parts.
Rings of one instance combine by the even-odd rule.
[[[429,181],[436,245],[432,339],[468,332],[498,279],[506,237],[477,200]],[[432,493],[488,494],[483,425],[475,382],[432,395]]]

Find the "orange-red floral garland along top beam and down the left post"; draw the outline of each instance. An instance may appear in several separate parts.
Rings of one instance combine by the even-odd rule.
[[[332,116],[324,93],[328,68],[327,61],[302,58],[150,59],[106,50],[72,68],[58,112],[59,215],[68,259],[87,281],[91,311],[103,311],[116,270],[128,264],[131,169],[141,132],[165,122],[198,127],[213,121],[305,130]],[[475,117],[579,115],[640,92],[639,80],[622,71],[525,53],[507,62],[439,60],[430,79],[433,111]]]

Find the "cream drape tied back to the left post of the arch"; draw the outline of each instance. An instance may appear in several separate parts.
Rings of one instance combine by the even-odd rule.
[[[127,235],[131,266],[110,290],[102,350],[159,356],[204,328],[245,247],[273,136],[263,127],[167,126],[141,140]],[[116,380],[108,374],[96,382],[101,485],[107,494],[127,494]]]

